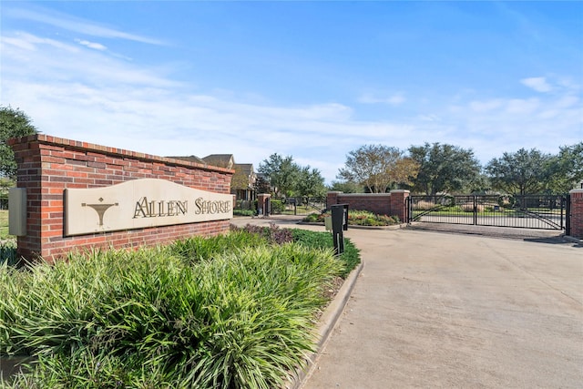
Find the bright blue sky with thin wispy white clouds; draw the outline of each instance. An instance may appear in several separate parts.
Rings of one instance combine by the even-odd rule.
[[[159,156],[583,140],[583,2],[0,2],[0,104]]]

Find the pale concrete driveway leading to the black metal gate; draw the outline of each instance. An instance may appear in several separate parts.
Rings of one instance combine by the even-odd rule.
[[[296,220],[251,222],[323,230]],[[302,389],[583,388],[583,248],[524,232],[348,230],[364,268]]]

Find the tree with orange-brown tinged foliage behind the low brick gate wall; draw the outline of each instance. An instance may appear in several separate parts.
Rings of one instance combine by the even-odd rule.
[[[372,193],[384,193],[393,185],[410,183],[418,164],[399,148],[364,145],[348,153],[338,179],[356,182]]]

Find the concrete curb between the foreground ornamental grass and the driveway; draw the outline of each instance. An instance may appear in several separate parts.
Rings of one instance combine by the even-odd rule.
[[[318,344],[316,345],[316,352],[312,353],[306,358],[306,366],[304,368],[300,368],[295,371],[290,382],[285,385],[287,389],[302,388],[306,379],[312,375],[313,369],[316,366],[316,361],[318,360],[320,353],[322,353],[324,345],[328,342],[336,322],[338,322],[338,319],[343,313],[346,302],[348,302],[348,299],[353,292],[354,285],[358,280],[358,276],[363,271],[363,268],[364,262],[361,259],[361,263],[356,269],[351,271],[346,280],[344,280],[343,286],[336,293],[336,296],[332,302],[330,302],[328,307],[322,313],[322,317],[318,321]]]

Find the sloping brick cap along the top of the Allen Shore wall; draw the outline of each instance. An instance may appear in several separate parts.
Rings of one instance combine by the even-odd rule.
[[[190,168],[197,168],[197,169],[203,169],[203,170],[208,170],[208,171],[220,171],[220,172],[230,173],[230,174],[234,174],[234,172],[235,172],[235,170],[233,170],[233,169],[219,168],[219,167],[211,166],[211,165],[207,165],[207,164],[203,165],[200,163],[189,162],[187,160],[181,160],[181,159],[159,157],[159,156],[155,156],[155,155],[151,155],[151,154],[140,153],[138,151],[126,150],[123,148],[110,148],[107,146],[96,145],[94,143],[82,142],[79,140],[72,140],[72,139],[66,139],[66,138],[58,138],[58,137],[53,137],[53,136],[46,135],[46,134],[35,134],[35,135],[28,135],[26,137],[20,137],[20,138],[10,138],[6,141],[8,146],[13,146],[13,145],[22,144],[22,143],[32,143],[32,142],[38,142],[38,143],[49,144],[49,145],[54,145],[54,146],[65,146],[65,147],[69,147],[69,148],[83,148],[83,149],[86,149],[89,151],[97,151],[99,153],[105,153],[105,154],[118,156],[118,157],[141,159],[141,160],[146,160],[146,161],[150,161],[150,162],[162,162],[162,163],[176,165],[176,166],[186,166],[186,167],[190,167]]]

